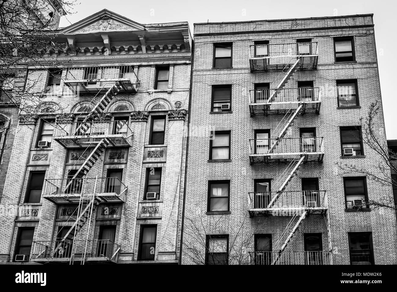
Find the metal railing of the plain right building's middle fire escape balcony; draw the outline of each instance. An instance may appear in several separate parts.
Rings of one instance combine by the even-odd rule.
[[[276,145],[270,150],[270,146]],[[249,139],[250,154],[323,153],[324,137]]]

